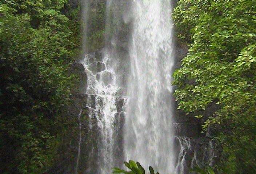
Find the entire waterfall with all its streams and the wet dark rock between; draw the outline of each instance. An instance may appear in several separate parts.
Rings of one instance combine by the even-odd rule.
[[[88,53],[87,32],[93,31],[88,16],[95,15],[93,4],[99,2],[106,6],[105,46]],[[109,174],[128,160],[160,174],[187,174],[194,165],[214,165],[217,152],[209,132],[204,137],[200,123],[190,123],[187,116],[174,119],[181,113],[175,111],[171,86],[171,2],[83,1],[85,55],[80,63],[87,74],[87,105],[78,115],[76,174]]]

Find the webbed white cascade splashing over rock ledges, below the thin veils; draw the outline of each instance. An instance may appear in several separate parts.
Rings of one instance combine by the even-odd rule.
[[[115,147],[115,117],[117,114],[116,98],[119,87],[116,86],[116,75],[109,65],[109,56],[104,55],[103,60],[87,54],[83,61],[88,76],[88,101],[90,120],[96,118],[99,137],[97,142],[97,171],[107,174],[114,166]],[[91,123],[93,124],[93,123]],[[96,138],[96,137],[95,137]]]

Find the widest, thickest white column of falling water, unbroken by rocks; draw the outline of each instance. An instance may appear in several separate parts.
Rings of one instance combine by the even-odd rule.
[[[177,174],[173,149],[174,64],[170,0],[135,0],[124,150],[127,160]]]

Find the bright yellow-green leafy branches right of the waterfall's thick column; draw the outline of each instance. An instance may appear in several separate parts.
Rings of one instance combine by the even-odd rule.
[[[203,117],[223,148],[219,173],[256,173],[256,1],[179,0],[173,18],[189,45],[174,74],[179,108],[187,113],[219,105]]]

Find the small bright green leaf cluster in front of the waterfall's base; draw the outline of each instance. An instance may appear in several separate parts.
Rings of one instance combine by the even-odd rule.
[[[145,174],[145,169],[140,165],[139,162],[134,162],[132,160],[124,162],[124,165],[131,171],[122,170],[119,168],[113,168],[113,173],[124,173],[124,174]],[[149,166],[150,174],[155,174],[154,169]],[[159,174],[158,172],[156,174]]]

